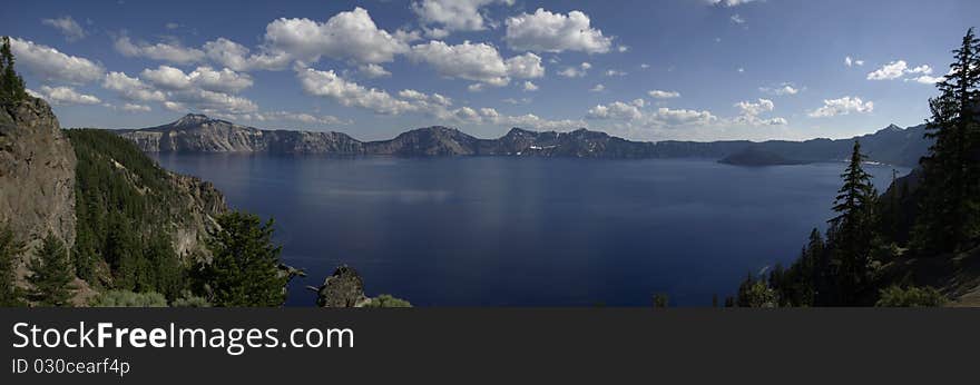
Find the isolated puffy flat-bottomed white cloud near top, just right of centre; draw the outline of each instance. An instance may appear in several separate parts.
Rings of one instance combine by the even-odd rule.
[[[538,8],[532,14],[508,18],[506,23],[503,40],[514,50],[606,53],[612,46],[612,38],[591,28],[589,17],[580,11],[561,14]]]

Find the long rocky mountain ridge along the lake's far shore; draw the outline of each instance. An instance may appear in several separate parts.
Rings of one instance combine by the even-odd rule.
[[[259,129],[198,113],[188,113],[161,126],[115,132],[145,152],[723,159],[751,147],[793,162],[842,161],[850,154],[853,140],[859,139],[870,160],[908,167],[918,165],[930,144],[923,138],[924,125],[909,128],[890,125],[850,139],[804,141],[634,141],[585,128],[532,131],[519,127],[499,138],[482,139],[457,128],[430,126],[404,131],[392,139],[362,141],[344,132]]]

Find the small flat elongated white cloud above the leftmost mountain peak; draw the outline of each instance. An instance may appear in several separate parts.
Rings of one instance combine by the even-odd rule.
[[[196,87],[216,92],[238,92],[253,85],[252,78],[246,73],[238,73],[227,68],[218,71],[206,66],[197,67],[190,73],[184,73],[174,67],[159,66],[155,70],[143,70],[140,77],[159,88],[175,90]]]

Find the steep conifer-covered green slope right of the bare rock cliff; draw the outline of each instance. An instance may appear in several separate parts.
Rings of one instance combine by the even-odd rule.
[[[89,283],[176,298],[186,264],[173,248],[175,224],[189,217],[170,176],[128,140],[67,130],[75,148],[76,273]]]

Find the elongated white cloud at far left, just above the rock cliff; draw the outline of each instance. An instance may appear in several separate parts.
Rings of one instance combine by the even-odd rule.
[[[17,65],[45,80],[86,83],[98,80],[106,73],[102,66],[91,60],[68,56],[32,41],[12,38],[10,48],[17,57]]]

